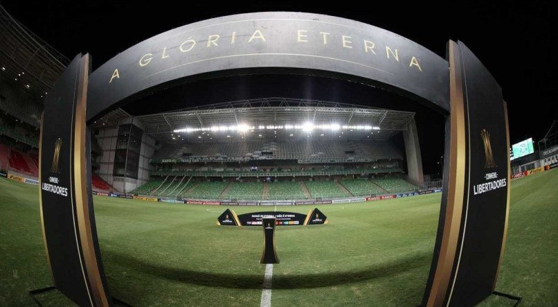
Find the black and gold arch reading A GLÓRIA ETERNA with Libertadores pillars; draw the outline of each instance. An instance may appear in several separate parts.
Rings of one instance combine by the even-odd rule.
[[[175,28],[92,73],[89,66],[88,54],[77,55],[47,96],[39,145],[48,263],[55,286],[77,304],[112,304],[93,213],[87,123],[154,91],[258,73],[361,82],[446,116],[440,220],[422,304],[472,306],[494,290],[509,208],[507,112],[501,87],[461,42],[448,42],[444,60],[358,21],[258,12]]]

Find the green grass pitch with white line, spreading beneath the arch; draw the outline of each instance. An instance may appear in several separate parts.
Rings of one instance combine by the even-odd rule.
[[[51,286],[38,189],[0,178],[0,306],[34,306]],[[96,197],[111,295],[132,306],[259,306],[260,227],[219,227],[226,207]],[[316,206],[280,207],[307,213]],[[440,194],[317,206],[329,225],[278,227],[273,306],[416,306],[429,274]],[[237,213],[264,210],[238,207]],[[265,208],[269,209],[269,208]],[[558,170],[512,182],[510,225],[496,290],[525,306],[558,306]],[[71,305],[60,293],[45,306]],[[514,302],[489,297],[486,306]]]

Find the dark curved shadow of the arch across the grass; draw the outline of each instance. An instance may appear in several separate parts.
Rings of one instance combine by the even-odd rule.
[[[111,263],[122,267],[129,267],[129,270],[150,274],[161,279],[190,283],[199,286],[238,288],[238,289],[261,289],[263,274],[230,274],[199,272],[186,268],[169,267],[159,263],[147,262],[134,258],[127,254],[118,254],[105,250],[102,252],[103,258]],[[290,274],[274,275],[273,289],[302,289],[302,288],[321,288],[325,286],[336,286],[359,281],[368,281],[382,277],[393,277],[399,273],[423,267],[431,263],[432,254],[414,254],[406,258],[400,258],[388,263],[378,263],[364,267],[361,270],[345,272],[324,272],[317,274]],[[281,265],[281,264],[279,264]],[[226,267],[224,267],[226,270]]]

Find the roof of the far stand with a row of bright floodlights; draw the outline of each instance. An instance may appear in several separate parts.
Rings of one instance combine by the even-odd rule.
[[[239,100],[138,116],[163,143],[308,137],[383,141],[406,130],[414,112],[294,98]]]

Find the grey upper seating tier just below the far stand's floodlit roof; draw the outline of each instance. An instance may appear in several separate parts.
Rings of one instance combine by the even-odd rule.
[[[163,159],[186,159],[188,161],[296,159],[299,163],[321,163],[402,158],[402,153],[388,141],[231,141],[165,146],[155,152],[153,161]]]

